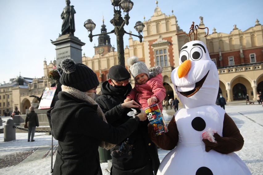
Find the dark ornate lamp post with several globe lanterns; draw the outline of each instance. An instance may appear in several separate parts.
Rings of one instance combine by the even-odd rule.
[[[92,37],[99,36],[99,35],[106,35],[114,33],[117,38],[117,52],[118,52],[118,64],[125,67],[125,59],[124,59],[124,47],[123,47],[123,35],[133,35],[140,39],[140,43],[142,42],[143,36],[142,31],[144,29],[144,24],[140,21],[137,21],[134,28],[138,32],[139,35],[134,35],[131,33],[127,33],[123,26],[129,24],[129,11],[132,9],[133,2],[131,0],[111,0],[111,5],[114,7],[114,17],[111,19],[111,24],[114,26],[114,30],[107,33],[92,35],[92,31],[95,29],[96,24],[91,20],[88,19],[84,22],[85,28],[90,32],[89,38],[90,42],[92,42]],[[119,9],[119,10],[118,10]],[[123,10],[125,14],[124,19],[121,17],[121,10]]]

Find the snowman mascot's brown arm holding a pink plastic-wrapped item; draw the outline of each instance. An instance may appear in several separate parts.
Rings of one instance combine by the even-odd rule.
[[[224,116],[223,137],[219,136],[217,133],[214,134],[214,137],[217,143],[203,139],[203,142],[206,145],[206,152],[214,149],[219,153],[228,154],[239,151],[244,145],[244,139],[240,134],[239,129],[227,113],[225,113]]]

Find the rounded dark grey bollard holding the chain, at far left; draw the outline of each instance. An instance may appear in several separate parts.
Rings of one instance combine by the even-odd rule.
[[[14,120],[6,120],[4,125],[4,142],[15,140],[15,123]]]

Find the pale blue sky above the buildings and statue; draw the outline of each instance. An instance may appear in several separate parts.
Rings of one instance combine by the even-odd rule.
[[[154,13],[156,3],[154,0],[132,0],[133,8],[129,12],[129,25],[124,30],[137,34],[134,25],[137,21],[148,21]],[[55,46],[50,39],[55,41],[61,33],[62,19],[60,15],[66,6],[65,0],[0,0],[0,83],[9,82],[11,78],[21,75],[27,78],[41,78],[44,76],[43,62],[49,64],[56,57]],[[98,37],[91,43],[88,32],[83,26],[87,19],[92,19],[96,24],[93,34],[100,34],[102,16],[107,32],[114,29],[110,23],[113,18],[113,6],[110,0],[71,0],[74,6],[75,28],[74,36],[86,43],[82,47],[82,54],[88,57],[94,55],[94,45],[98,46]],[[203,17],[209,34],[215,27],[216,31],[229,34],[236,25],[241,31],[255,26],[258,19],[263,24],[262,0],[200,0],[200,1],[175,1],[159,0],[158,7],[165,15],[173,14],[183,31],[189,31],[194,21],[200,23]],[[124,14],[122,13],[122,17]],[[117,48],[116,36],[109,34],[111,45]],[[127,34],[124,35],[124,47],[128,45]],[[133,37],[134,40],[138,40]]]

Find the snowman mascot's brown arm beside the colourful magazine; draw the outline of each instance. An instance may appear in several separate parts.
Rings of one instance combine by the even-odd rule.
[[[168,124],[167,128],[169,129],[168,132],[156,136],[152,125],[148,124],[148,134],[151,137],[152,142],[159,146],[161,149],[172,150],[177,145],[179,139],[179,133],[177,130],[177,125],[175,123],[174,116]]]

